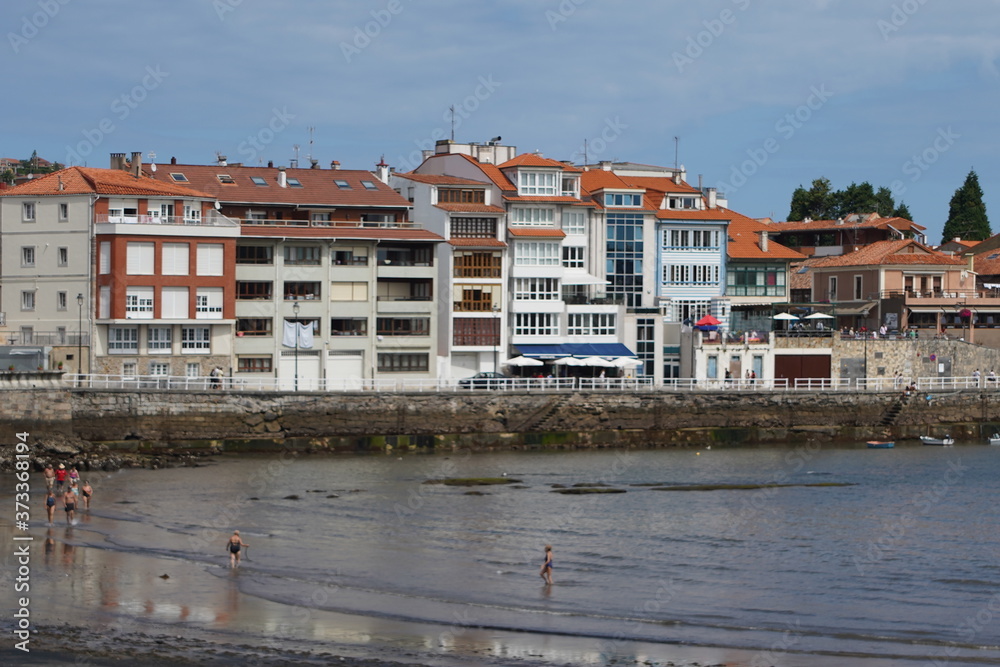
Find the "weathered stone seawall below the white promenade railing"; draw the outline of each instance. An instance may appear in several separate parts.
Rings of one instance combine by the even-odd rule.
[[[25,388],[0,396],[0,424],[8,434],[26,429],[105,442],[294,439],[368,448],[385,442],[385,436],[433,445],[447,435],[464,443],[577,438],[668,445],[706,438],[856,441],[943,429],[978,438],[1000,423],[996,390],[918,393],[901,406],[888,431],[880,424],[899,403],[899,392],[241,394]]]

